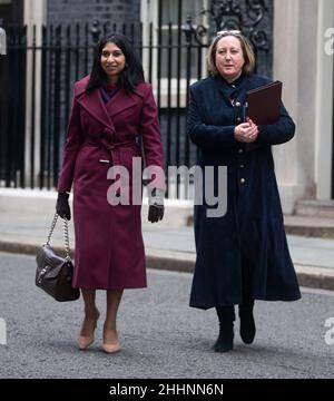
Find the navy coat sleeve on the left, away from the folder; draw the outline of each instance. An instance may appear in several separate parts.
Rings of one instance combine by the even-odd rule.
[[[212,106],[215,107],[215,105]],[[234,147],[236,146],[234,129],[234,125],[214,126],[205,124],[196,95],[190,88],[187,133],[195,145],[205,148]]]

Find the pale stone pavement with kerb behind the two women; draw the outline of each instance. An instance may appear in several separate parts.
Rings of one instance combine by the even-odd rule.
[[[28,195],[27,195],[28,194]],[[55,211],[53,193],[0,190],[0,251],[36,255],[46,242]],[[189,205],[166,203],[163,222],[147,222],[147,204],[143,207],[143,236],[146,245],[147,266],[193,272],[196,252],[194,229],[189,222]],[[334,291],[334,223],[324,217],[285,216],[292,260],[302,286]],[[327,227],[327,229],[326,229]],[[316,228],[316,229],[314,229]],[[70,245],[75,244],[72,221]],[[321,235],[310,236],[310,235]],[[51,245],[61,251],[62,229],[58,224]]]

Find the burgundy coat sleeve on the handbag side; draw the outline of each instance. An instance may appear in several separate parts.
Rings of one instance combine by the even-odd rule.
[[[73,180],[76,159],[82,143],[82,129],[80,123],[80,105],[73,97],[67,138],[63,149],[63,160],[60,177],[58,180],[58,192],[70,192]]]

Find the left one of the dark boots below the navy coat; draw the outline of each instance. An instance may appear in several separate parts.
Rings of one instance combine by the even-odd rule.
[[[216,311],[219,319],[219,335],[214,345],[214,350],[215,352],[228,352],[233,350],[234,306],[216,307]]]

